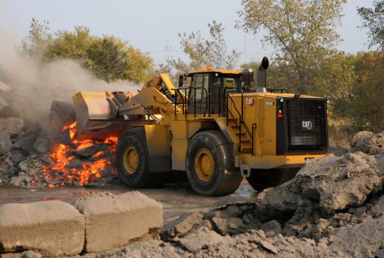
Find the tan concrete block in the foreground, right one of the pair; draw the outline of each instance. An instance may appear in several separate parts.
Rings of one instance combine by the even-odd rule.
[[[75,206],[85,217],[86,252],[121,248],[163,227],[162,204],[140,192],[89,195]]]

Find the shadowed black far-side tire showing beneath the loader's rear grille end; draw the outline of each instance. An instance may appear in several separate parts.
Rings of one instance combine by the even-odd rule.
[[[251,175],[246,181],[257,191],[275,187],[290,181],[295,177],[300,167],[286,169],[251,169]]]

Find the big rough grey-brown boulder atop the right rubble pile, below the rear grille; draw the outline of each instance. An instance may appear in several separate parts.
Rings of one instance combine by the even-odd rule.
[[[381,184],[375,158],[362,152],[310,161],[300,176],[305,176],[303,196],[318,202],[327,213],[363,204]]]

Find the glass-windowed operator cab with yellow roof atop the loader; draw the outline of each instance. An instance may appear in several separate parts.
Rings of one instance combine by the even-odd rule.
[[[186,77],[191,77],[187,114],[224,114],[226,94],[242,91],[240,71],[202,69]]]

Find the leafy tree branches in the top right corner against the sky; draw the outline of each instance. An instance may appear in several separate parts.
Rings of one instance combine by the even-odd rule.
[[[384,50],[384,0],[374,1],[374,8],[357,8],[362,27],[368,29],[369,47]]]

